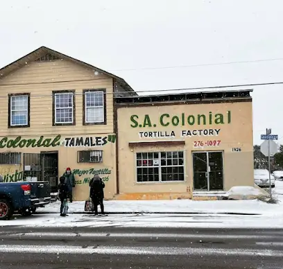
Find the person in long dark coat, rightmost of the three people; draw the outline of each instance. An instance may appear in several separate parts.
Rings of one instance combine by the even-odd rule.
[[[98,215],[98,205],[101,207],[101,214],[104,215],[104,205],[103,205],[103,198],[104,198],[104,187],[105,184],[101,180],[98,174],[94,175],[92,180],[89,182],[90,186],[90,198],[92,198],[92,203],[94,205],[94,214]]]

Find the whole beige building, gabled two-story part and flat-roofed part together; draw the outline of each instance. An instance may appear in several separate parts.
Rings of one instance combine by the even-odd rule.
[[[0,175],[71,167],[74,200],[191,198],[253,186],[250,91],[141,97],[125,80],[41,47],[0,70]]]

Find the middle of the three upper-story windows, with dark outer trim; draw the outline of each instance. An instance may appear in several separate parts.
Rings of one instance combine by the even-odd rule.
[[[53,92],[53,125],[75,125],[75,92]]]

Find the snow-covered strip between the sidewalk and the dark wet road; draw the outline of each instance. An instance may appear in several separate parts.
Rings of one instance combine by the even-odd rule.
[[[0,227],[22,225],[26,227],[215,227],[215,228],[282,228],[283,217],[275,215],[227,214],[113,214],[94,216],[87,214],[37,214],[0,221]]]

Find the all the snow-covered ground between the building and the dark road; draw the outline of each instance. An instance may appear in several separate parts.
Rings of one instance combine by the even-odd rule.
[[[33,216],[0,220],[0,227],[283,227],[283,182],[273,189],[277,204],[260,200],[137,200],[105,201],[107,216],[85,212],[85,202],[69,203],[69,216],[61,217],[60,202],[37,210]]]

